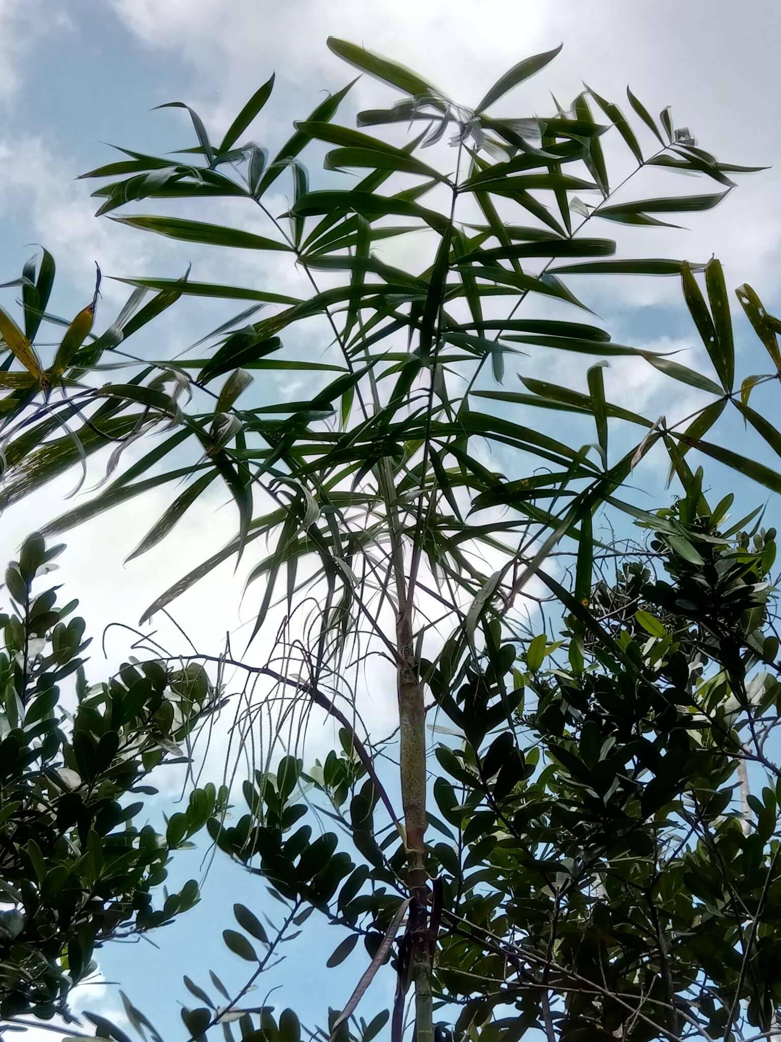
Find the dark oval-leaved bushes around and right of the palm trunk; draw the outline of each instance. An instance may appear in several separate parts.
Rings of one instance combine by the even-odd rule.
[[[702,475],[694,477],[697,491]],[[773,1029],[781,1006],[781,770],[769,751],[781,722],[775,530],[726,535],[728,506],[711,512],[689,495],[640,522],[648,547],[620,557],[614,576],[589,590],[590,631],[573,614],[559,641],[539,634],[521,647],[494,625],[493,651],[476,653],[456,635],[422,663],[437,729],[453,736],[431,765],[440,817],[430,815],[426,844],[439,1038],[498,1042],[536,1027],[551,1039],[646,1042]],[[245,785],[250,813],[233,826],[216,817],[209,830],[286,909],[274,937],[235,907],[266,949],[253,979],[313,913],[318,937],[319,917],[343,927],[323,951],[324,971],[355,962],[362,947],[371,979],[391,956],[400,1039],[411,919],[393,937],[406,852],[378,820],[378,793],[350,735],[342,739],[339,752],[305,773],[295,761],[276,775],[258,772]],[[761,797],[741,791],[741,763],[764,776]],[[282,771],[308,787],[305,801]],[[337,820],[349,843],[301,824],[309,808]],[[244,935],[225,938],[259,960]],[[362,987],[336,1037],[366,1040],[392,1018],[358,1019]],[[219,1021],[204,1011],[204,1023]],[[338,1023],[332,1010],[328,1029],[312,1031],[326,1039]]]

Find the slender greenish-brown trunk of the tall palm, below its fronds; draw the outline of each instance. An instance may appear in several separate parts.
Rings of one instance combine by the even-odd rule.
[[[423,685],[412,642],[409,605],[402,606],[397,622],[399,652],[399,724],[401,798],[407,837],[407,886],[412,938],[412,982],[414,985],[415,1037],[418,1042],[434,1042],[431,1012],[431,948],[428,932],[428,887],[426,876],[426,713]]]

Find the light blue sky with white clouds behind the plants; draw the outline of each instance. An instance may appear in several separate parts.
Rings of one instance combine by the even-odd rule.
[[[688,0],[685,4],[680,0],[653,4],[591,0],[587,5],[575,0],[555,4],[541,0],[428,0],[425,4],[411,0],[288,0],[286,4],[270,0],[0,0],[0,281],[16,277],[34,249],[30,244],[39,243],[57,262],[51,308],[61,315],[76,314],[90,299],[96,260],[107,275],[166,277],[177,277],[192,262],[193,278],[295,292],[301,286],[300,274],[281,270],[278,263],[226,259],[222,251],[209,247],[171,243],[97,220],[95,201],[90,199],[95,182],[76,178],[115,157],[107,143],[155,154],[192,144],[184,113],[151,111],[163,102],[185,101],[216,135],[221,133],[272,71],[276,73],[273,103],[250,129],[254,140],[273,150],[288,135],[293,120],[304,118],[322,99],[322,92],[338,90],[352,78],[352,70],[326,48],[329,34],[392,55],[467,104],[474,104],[520,58],[563,43],[555,64],[525,84],[523,94],[519,91],[497,106],[499,115],[547,111],[551,90],[569,100],[581,90],[582,81],[626,108],[629,82],[653,111],[671,104],[676,124],[690,127],[700,144],[720,158],[775,168],[781,159],[777,128],[780,29],[781,11],[771,0],[751,0],[739,16],[726,0]],[[351,92],[339,119],[353,125],[358,108],[391,100],[393,92],[364,77]],[[312,154],[317,156],[317,150]],[[312,162],[316,187],[321,183],[318,178],[322,173]],[[701,180],[665,183],[671,193],[713,190],[711,182]],[[660,178],[651,175],[640,194],[657,194],[660,184]],[[276,213],[285,208],[281,188],[274,202],[279,204]],[[152,209],[145,203],[134,212]],[[218,223],[244,220],[222,203],[206,219]],[[748,281],[771,308],[781,302],[777,278],[781,206],[774,169],[744,178],[725,203],[709,214],[691,215],[686,224],[687,229],[681,231],[628,229],[622,237],[623,252],[697,260],[716,255],[724,264],[728,287]],[[254,223],[243,226],[255,228]],[[610,226],[605,233],[614,231]],[[413,256],[403,259],[414,262]],[[682,349],[688,352],[688,357],[679,356],[685,364],[701,363],[702,348],[681,307],[677,279],[616,278],[594,284],[581,276],[572,284],[588,296],[614,341]],[[0,292],[3,305],[12,306],[16,291]],[[99,325],[110,322],[124,295],[120,283],[104,282]],[[154,325],[145,349],[151,356],[170,357],[230,314],[219,303],[181,301]],[[739,316],[735,318],[738,371],[742,375],[766,372],[766,359],[756,351],[747,324]],[[314,346],[316,334],[309,336]],[[584,367],[569,357],[554,362],[531,357],[523,365],[528,374],[564,379],[583,389]],[[611,367],[606,387],[609,398],[621,399],[652,419],[661,413],[684,415],[701,400],[691,389],[672,387],[655,371],[626,359]],[[283,390],[300,396],[295,386]],[[722,429],[723,444],[748,455],[764,453],[762,458],[774,466],[741,425],[728,421]],[[100,476],[95,473],[89,483]],[[663,465],[652,461],[637,479],[653,486],[654,495],[663,496],[658,491],[663,476]],[[762,490],[740,477],[727,477],[715,466],[707,476],[715,493],[737,492],[738,503],[746,505],[740,513],[765,499]],[[74,475],[68,475],[45,495],[23,500],[3,515],[6,557],[16,552],[28,531],[73,504],[74,500],[67,504],[64,500],[74,481]],[[650,494],[649,498],[653,499]],[[125,565],[127,553],[169,501],[169,493],[154,494],[66,537],[69,547],[62,557],[61,581],[81,599],[81,610],[96,636],[108,619],[135,624],[163,588],[232,535],[231,507],[225,506],[224,494],[215,487],[210,510],[192,513],[171,540]],[[771,517],[775,507],[771,499]],[[177,620],[199,647],[217,649],[226,630],[252,617],[254,602],[251,597],[242,601],[242,589],[243,575],[234,575],[227,566],[176,603]],[[159,625],[159,631],[179,649],[179,638],[170,624]],[[93,656],[94,679],[126,653],[126,638],[115,631],[107,645],[108,661],[97,651]],[[389,686],[375,693],[371,710],[374,724],[383,734],[392,729],[395,708]],[[325,748],[331,737],[328,728],[314,736],[309,753]],[[182,878],[197,875],[197,860],[195,855],[191,863],[185,860],[176,872],[182,871]],[[122,979],[134,999],[143,996],[137,1004],[159,1026],[171,1025],[170,1037],[176,1037],[176,1001],[185,997],[179,977],[182,973],[196,981],[199,974],[205,976],[206,953],[221,976],[241,984],[243,966],[223,949],[219,935],[231,925],[231,902],[243,899],[251,904],[259,900],[256,891],[256,880],[216,862],[202,904],[166,931],[165,937],[155,939],[161,945],[159,951],[145,945],[142,959],[135,946],[108,948],[101,960],[106,977]],[[321,1010],[328,1002],[338,1006],[349,994],[362,968],[360,948],[338,971],[326,971],[325,959],[341,938],[330,928],[324,935],[322,949],[319,943],[313,959],[311,952],[308,958],[289,956],[284,967],[288,984],[280,1007],[289,1002]],[[167,986],[157,992],[149,981],[158,979],[159,974],[166,975]],[[301,974],[307,988],[292,990],[289,979],[304,979]],[[310,979],[317,982],[312,988]],[[92,1006],[105,1015],[119,1016],[116,991],[106,987],[95,989],[98,993],[99,999],[90,995]],[[381,1000],[382,995],[375,995],[367,1002]]]

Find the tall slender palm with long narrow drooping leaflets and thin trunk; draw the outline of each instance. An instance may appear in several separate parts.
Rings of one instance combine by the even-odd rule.
[[[424,645],[427,651],[434,646],[436,661],[443,646],[438,634],[451,634],[462,653],[474,655],[478,645],[496,653],[497,632],[502,639],[521,639],[518,605],[535,576],[570,609],[570,601],[587,600],[593,515],[609,503],[631,517],[650,519],[618,491],[659,443],[686,488],[694,480],[686,454],[697,448],[780,491],[776,471],[704,436],[730,404],[778,451],[775,425],[748,401],[756,383],[776,379],[781,369],[776,339],[781,323],[766,314],[749,287],[738,291],[773,361],[773,372],[744,380],[738,398],[720,263],[627,258],[618,254],[615,241],[593,233],[603,221],[611,228],[658,227],[665,223],[660,215],[710,209],[732,191],[730,174],[758,169],[716,160],[686,128],[674,128],[669,109],[657,122],[628,92],[630,120],[586,88],[570,108],[556,103],[547,117],[490,116],[495,102],[548,66],[558,49],[520,61],[476,106],[468,107],[394,61],[338,40],[329,40],[329,47],[404,95],[387,109],[359,113],[358,125],[420,128],[411,141],[400,147],[363,129],[334,124],[349,84],[296,123],[289,140],[270,158],[254,142],[240,141],[269,101],[272,76],[219,144],[188,109],[198,144],[186,150],[186,162],[122,150],[125,158],[84,175],[120,178],[95,193],[103,200],[99,215],[187,243],[271,253],[280,263],[297,264],[311,294],[300,299],[266,288],[206,283],[190,272],[179,279],[125,276],[133,293],[117,321],[95,336],[94,299],[73,323],[66,323],[62,343],[45,367],[33,346],[39,325],[42,319],[61,321],[46,313],[53,262],[45,253],[40,268],[28,266],[21,279],[24,331],[0,312],[0,332],[9,348],[0,377],[10,388],[3,400],[7,470],[0,503],[16,502],[79,460],[85,468],[87,455],[110,442],[116,443],[108,467],[112,476],[126,445],[172,427],[161,443],[44,534],[65,530],[150,488],[186,477],[184,491],[133,551],[137,555],[167,537],[221,478],[237,510],[235,538],[162,593],[145,618],[222,562],[246,559],[266,539],[271,550],[254,560],[248,576],[248,584],[263,584],[252,639],[267,618],[275,618],[275,594],[283,582],[286,593],[280,600],[284,604],[286,599],[288,626],[296,605],[306,597],[317,603],[314,621],[286,646],[280,683],[293,678],[305,698],[330,688],[334,699],[351,699],[349,669],[369,654],[389,661],[399,699],[404,818],[399,827],[411,901],[417,1033],[419,1042],[432,1042]],[[603,114],[604,122],[595,111]],[[616,185],[602,148],[608,131],[622,139],[636,160]],[[423,149],[431,146],[428,154],[438,158],[435,146],[448,134],[450,162],[426,162]],[[650,150],[641,137],[651,141]],[[353,188],[311,191],[300,155],[312,142],[331,146],[326,170],[359,170],[362,179]],[[629,201],[622,192],[616,199],[618,190],[633,185],[647,168],[698,175],[717,188]],[[294,195],[288,213],[277,217],[272,190],[282,177],[292,180]],[[584,195],[593,201],[584,202]],[[430,205],[426,197],[433,200]],[[200,200],[204,207],[213,198],[243,200],[253,222],[258,212],[264,215],[268,235],[190,218],[116,215],[125,204],[146,198]],[[514,223],[519,218],[523,224]],[[423,231],[431,246],[419,268],[410,271],[379,258],[379,244],[392,249],[415,231]],[[704,294],[698,279],[703,271]],[[671,354],[615,344],[601,326],[580,320],[589,308],[570,289],[568,276],[583,273],[680,278],[712,374],[687,368]],[[334,274],[345,276],[341,284],[329,284]],[[143,304],[149,291],[156,295]],[[129,337],[186,296],[242,300],[249,308],[215,331],[217,349],[205,357],[150,361],[133,355]],[[525,317],[532,301],[550,305],[551,317]],[[254,313],[267,305],[279,309],[258,319]],[[586,316],[559,318],[568,307]],[[311,319],[322,330],[323,346],[329,346],[328,362],[311,361],[310,351],[291,357],[283,349],[297,342],[298,329]],[[501,383],[518,345],[551,356],[573,352],[599,361],[588,370],[583,390],[522,373],[522,391],[496,390],[484,378],[486,366]],[[695,415],[658,420],[608,401],[602,365],[614,356],[640,359],[710,399]],[[10,369],[15,357],[22,371]],[[128,382],[95,388],[95,374],[123,367],[135,370]],[[276,402],[237,404],[242,395],[249,401],[253,373],[289,371],[305,374],[310,383],[303,400],[291,401],[282,394]],[[325,386],[324,373],[333,376]],[[216,390],[215,381],[226,376]],[[55,389],[62,391],[61,400]],[[188,394],[193,404],[183,406]],[[500,415],[502,407],[508,413]],[[597,445],[566,444],[559,431],[539,428],[538,417],[561,414],[595,424]],[[76,429],[74,417],[80,421]],[[608,441],[616,422],[624,439],[618,458]],[[626,431],[632,426],[640,428],[639,437],[628,441]],[[59,437],[45,441],[55,430]],[[512,454],[509,476],[480,457],[481,442]],[[170,469],[152,472],[168,460],[174,461]],[[496,507],[509,513],[499,520]],[[480,516],[483,511],[487,513]],[[678,538],[688,545],[684,530]],[[577,543],[572,592],[546,567],[561,540]],[[448,646],[452,650],[453,644]]]

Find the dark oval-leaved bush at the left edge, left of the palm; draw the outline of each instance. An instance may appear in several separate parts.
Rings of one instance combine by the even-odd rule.
[[[68,1011],[68,993],[116,937],[170,923],[200,900],[195,879],[154,891],[226,793],[191,793],[167,835],[134,822],[157,790],[147,775],[187,762],[187,736],[216,708],[200,666],[126,663],[90,687],[77,601],[45,576],[64,546],[30,536],[5,573],[0,616],[0,1016]],[[43,580],[43,582],[42,582]]]

